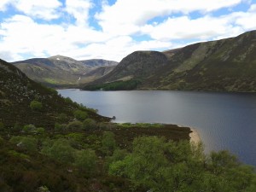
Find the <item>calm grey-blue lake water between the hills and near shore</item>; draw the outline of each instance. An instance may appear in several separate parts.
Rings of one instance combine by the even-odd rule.
[[[116,117],[116,122],[194,127],[206,152],[228,149],[256,166],[256,94],[189,91],[58,90],[61,96]]]

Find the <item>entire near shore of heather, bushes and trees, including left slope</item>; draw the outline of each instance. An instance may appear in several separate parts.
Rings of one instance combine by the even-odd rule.
[[[189,128],[109,123],[4,61],[0,93],[0,191],[255,191],[252,167],[203,154]]]

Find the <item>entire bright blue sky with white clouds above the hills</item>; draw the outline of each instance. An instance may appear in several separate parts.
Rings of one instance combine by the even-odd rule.
[[[256,29],[256,0],[0,0],[0,58],[121,61]]]

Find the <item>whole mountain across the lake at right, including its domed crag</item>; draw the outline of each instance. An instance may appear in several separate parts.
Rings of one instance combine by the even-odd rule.
[[[136,51],[84,89],[122,90],[136,82],[132,89],[256,91],[255,74],[256,31],[252,31],[164,52]]]

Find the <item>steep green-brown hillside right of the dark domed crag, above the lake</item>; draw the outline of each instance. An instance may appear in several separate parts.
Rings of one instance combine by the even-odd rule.
[[[256,31],[189,45],[144,87],[160,90],[256,91]],[[167,52],[168,54],[168,52]]]

